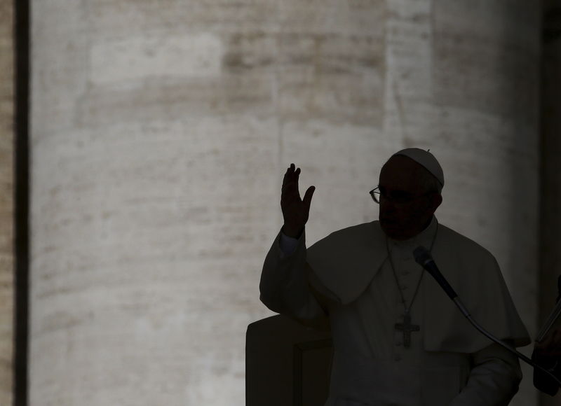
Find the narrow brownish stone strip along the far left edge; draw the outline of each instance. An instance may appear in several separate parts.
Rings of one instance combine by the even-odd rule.
[[[13,402],[13,1],[0,0],[0,405]]]

